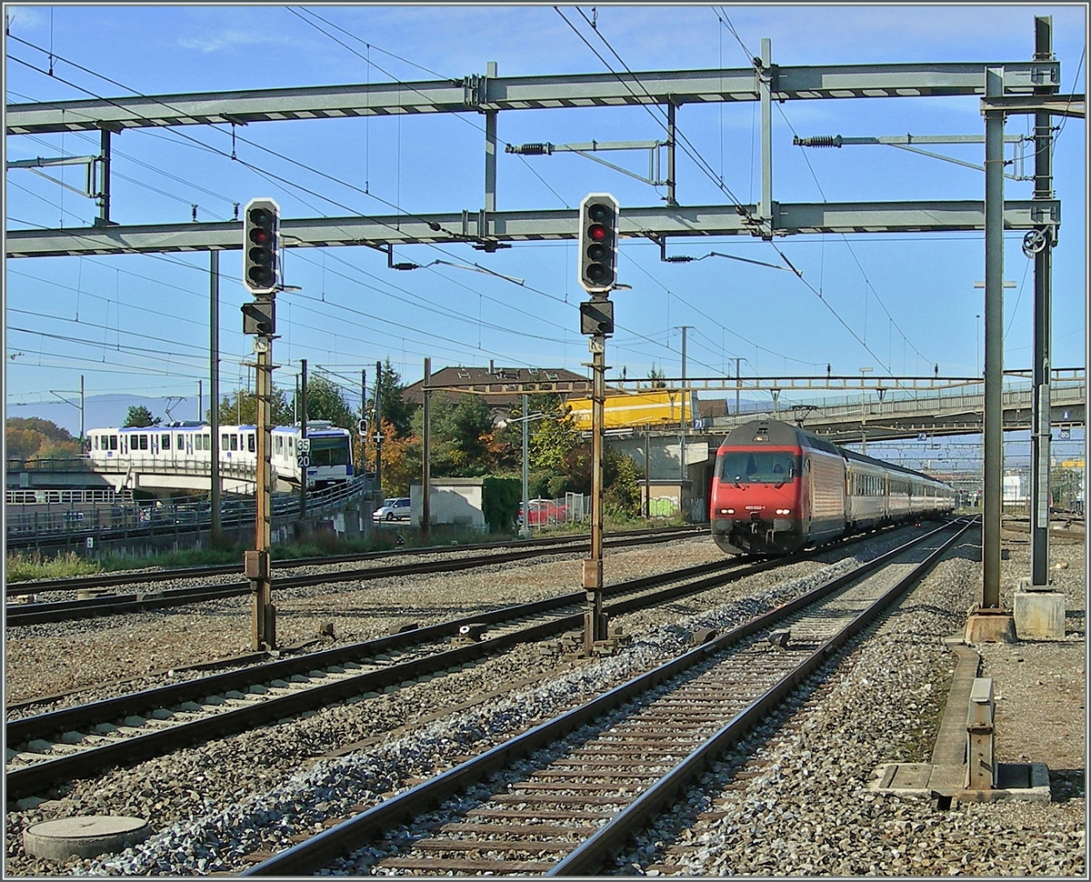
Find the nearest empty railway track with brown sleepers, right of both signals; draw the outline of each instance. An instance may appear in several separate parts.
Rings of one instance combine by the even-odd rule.
[[[325,819],[334,825],[297,834],[243,875],[594,874],[969,526],[945,525],[353,817]]]

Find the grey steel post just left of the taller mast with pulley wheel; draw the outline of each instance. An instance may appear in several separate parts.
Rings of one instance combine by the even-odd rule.
[[[1004,69],[985,69],[985,95],[1004,94]],[[1000,606],[1004,476],[1004,112],[985,111],[985,486],[982,609]]]

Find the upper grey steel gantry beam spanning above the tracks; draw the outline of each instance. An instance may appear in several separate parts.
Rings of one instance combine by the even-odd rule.
[[[774,100],[793,98],[982,95],[985,69],[1004,68],[1008,93],[1059,86],[1056,61],[770,65]],[[758,100],[753,68],[646,71],[634,74],[465,76],[413,83],[372,83],[244,92],[124,96],[10,104],[8,134],[112,131],[164,126],[329,119],[400,114],[465,114],[561,107],[703,104]]]

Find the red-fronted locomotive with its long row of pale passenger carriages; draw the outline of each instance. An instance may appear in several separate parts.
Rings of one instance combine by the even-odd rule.
[[[758,419],[720,444],[712,538],[732,555],[790,555],[864,527],[955,509],[943,481]]]

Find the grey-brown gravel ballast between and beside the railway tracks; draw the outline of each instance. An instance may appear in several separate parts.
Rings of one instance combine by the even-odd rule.
[[[621,581],[715,559],[719,551],[710,546],[707,540],[679,543],[671,546],[669,561],[662,547],[619,551],[608,557],[607,576],[611,582]],[[866,557],[882,550],[868,548]],[[999,823],[1007,825],[1006,837],[1012,844],[1010,848],[1005,846],[1005,855],[1022,844],[1018,850],[1028,868],[1024,872],[1053,874],[1052,868],[1057,868],[1058,873],[1082,873],[1082,858],[1077,855],[1082,855],[1082,838],[1077,841],[1074,835],[1083,829],[1081,782],[1067,801],[1045,807],[972,807],[937,814],[926,804],[901,803],[889,797],[866,800],[863,787],[877,762],[894,756],[899,749],[912,753],[934,737],[934,728],[928,734],[935,723],[930,708],[934,708],[951,667],[950,656],[942,652],[940,637],[959,630],[972,600],[980,567],[970,559],[972,551],[963,548],[961,556],[942,564],[903,603],[902,615],[883,629],[879,644],[856,651],[834,675],[836,686],[823,700],[819,713],[772,748],[769,771],[760,784],[755,779],[744,790],[730,791],[728,798],[739,801],[738,811],[732,812],[733,829],[698,827],[702,832],[696,835],[702,837],[703,847],[707,844],[707,854],[691,854],[686,872],[783,875],[807,872],[810,866],[811,872],[835,874],[872,871],[946,875],[952,868],[968,874],[1003,873],[1017,865],[1000,862],[991,871],[986,869],[999,854],[995,844],[988,843],[996,835],[991,825]],[[860,547],[854,553],[865,557]],[[814,561],[795,564],[787,574],[764,573],[699,598],[684,598],[666,612],[622,617],[616,623],[634,635],[632,643],[622,654],[595,665],[573,668],[558,656],[521,647],[449,677],[346,702],[309,718],[263,727],[131,770],[76,782],[60,799],[26,804],[8,813],[7,871],[17,875],[237,872],[245,866],[241,857],[250,851],[283,848],[293,833],[313,831],[331,815],[385,798],[415,777],[447,767],[467,753],[483,750],[565,710],[584,695],[646,669],[678,652],[695,627],[730,627],[782,603],[813,584],[818,574],[830,574],[822,571],[831,559],[818,556]],[[1016,563],[1012,560],[1006,565]],[[839,564],[838,569],[843,565],[848,564]],[[1070,622],[1078,621],[1080,629],[1071,642],[1082,645],[1082,552],[1078,563],[1074,556],[1072,569],[1064,574],[1066,579],[1071,576],[1071,585],[1065,586],[1070,595],[1069,610],[1078,611]],[[278,624],[310,636],[319,624],[333,621],[338,640],[360,640],[386,633],[409,620],[423,624],[451,618],[456,609],[492,608],[544,596],[559,586],[577,585],[578,577],[579,561],[566,560],[519,569],[495,568],[492,572],[392,580],[391,584],[364,583],[362,587],[346,585],[340,594],[278,598]],[[1078,600],[1071,598],[1072,594],[1078,595]],[[187,659],[221,657],[232,649],[243,652],[249,640],[248,615],[245,606],[217,612],[219,629],[209,625],[207,631],[205,619],[191,615],[194,630],[188,642],[169,641],[157,646],[146,645],[146,640],[151,635],[166,636],[163,621],[171,617],[161,612],[124,617],[131,621],[105,630],[99,623],[97,629],[65,639],[75,641],[85,653],[81,669],[101,660],[107,668],[131,675],[132,667],[118,660],[111,665],[111,653],[124,653],[136,665],[155,665],[169,655],[169,664],[181,665]],[[232,646],[226,635],[233,635],[242,645]],[[29,640],[47,639],[41,635]],[[9,652],[11,645],[9,634]],[[1048,664],[1034,655],[1034,647],[1024,645],[1022,649],[1033,665]],[[48,677],[48,665],[38,668],[28,658],[29,654],[24,653],[19,668],[22,687],[28,694],[35,690],[41,694],[47,690],[38,684],[36,674]],[[986,662],[992,663],[987,654]],[[8,664],[12,664],[11,656]],[[101,679],[107,671],[99,669],[97,674]],[[1082,679],[1082,670],[1079,676]],[[533,687],[526,684],[531,678],[536,680]],[[508,684],[511,688],[505,689]],[[1003,694],[1004,688],[998,679],[997,692]],[[1075,694],[1067,681],[1066,689]],[[469,711],[444,714],[446,708],[487,691],[507,694]],[[1081,706],[1081,719],[1082,713]],[[435,718],[422,728],[411,729],[428,717]],[[400,727],[410,730],[399,734]],[[326,752],[388,731],[395,731],[395,736],[381,743],[313,763],[314,758]],[[912,734],[910,741],[903,740],[907,731]],[[1082,728],[1079,731],[1082,734]],[[1043,759],[1035,752],[1041,748],[1027,748],[1032,760]],[[1082,758],[1082,737],[1079,748]],[[1018,758],[1002,753],[1000,759]],[[1066,767],[1082,768],[1082,759]],[[710,785],[694,800],[700,808],[718,798],[716,787]],[[95,861],[59,863],[23,853],[20,833],[26,825],[89,813],[147,818],[156,834],[123,855]],[[923,826],[918,830],[918,825]],[[722,834],[722,838],[712,838],[714,832]],[[748,837],[747,844],[740,853],[744,836]],[[842,842],[847,837],[851,845],[848,849]],[[657,846],[657,842],[662,845]],[[625,856],[614,872],[644,872],[649,863],[663,859],[663,847],[671,843],[667,823]],[[986,850],[990,847],[992,853]],[[898,849],[901,857],[894,856]],[[755,860],[744,863],[751,854]],[[963,854],[969,855],[966,863]],[[951,855],[957,857],[957,866],[944,863]],[[940,865],[942,870],[937,869]]]

